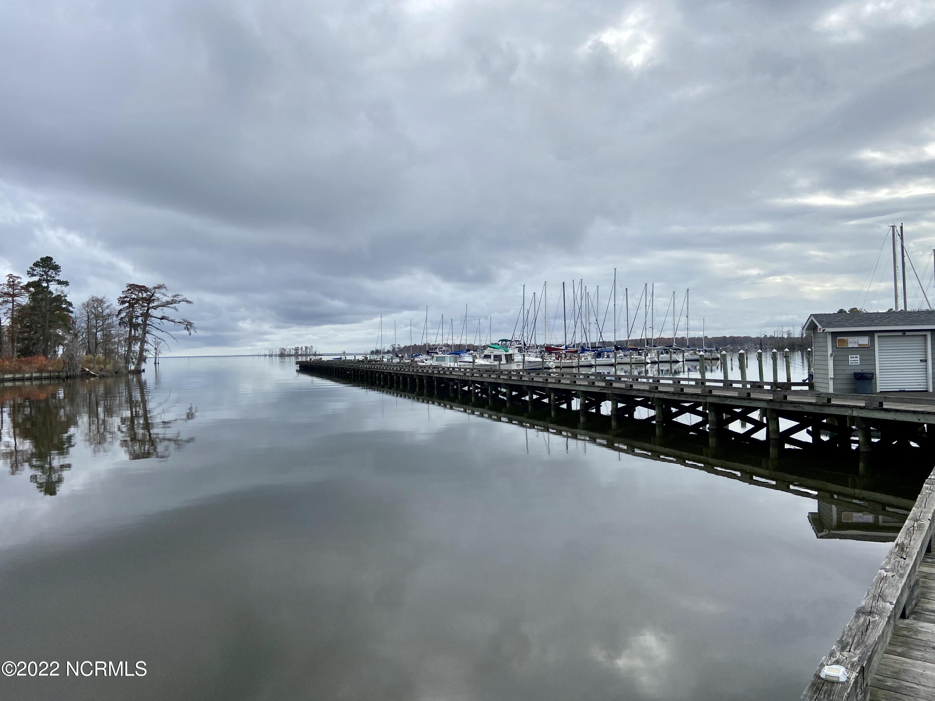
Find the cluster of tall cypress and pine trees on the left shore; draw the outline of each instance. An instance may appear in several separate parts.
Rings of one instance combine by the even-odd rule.
[[[9,273],[0,284],[0,365],[7,371],[56,361],[69,375],[81,367],[138,373],[175,339],[173,332],[194,332],[194,323],[175,313],[192,301],[164,284],[131,282],[116,304],[92,295],[76,309],[51,256],[30,265],[26,278]]]

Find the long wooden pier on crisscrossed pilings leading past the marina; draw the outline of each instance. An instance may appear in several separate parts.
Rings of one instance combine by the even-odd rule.
[[[575,411],[581,427],[645,414],[658,436],[669,429],[706,436],[716,450],[725,441],[785,449],[859,451],[864,463],[886,447],[935,455],[935,396],[814,392],[806,382],[682,379],[568,371],[490,370],[408,363],[298,361],[300,370],[326,377],[396,387],[530,413]]]

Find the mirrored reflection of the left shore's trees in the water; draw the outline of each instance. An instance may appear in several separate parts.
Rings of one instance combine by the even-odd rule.
[[[139,377],[0,388],[0,461],[11,475],[28,471],[39,492],[54,496],[76,441],[94,453],[119,445],[130,460],[165,459],[194,441],[177,425],[195,418],[194,406],[178,414],[150,404]]]

